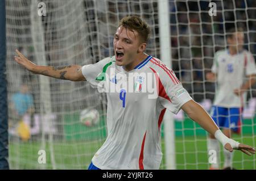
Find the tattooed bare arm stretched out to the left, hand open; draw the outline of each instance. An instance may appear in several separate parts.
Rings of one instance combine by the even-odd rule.
[[[18,56],[15,56],[15,61],[34,74],[41,74],[70,81],[86,81],[84,75],[82,75],[82,66],[80,65],[69,65],[59,68],[53,66],[40,66],[28,60],[19,52],[19,50],[15,50],[15,52],[18,54]]]

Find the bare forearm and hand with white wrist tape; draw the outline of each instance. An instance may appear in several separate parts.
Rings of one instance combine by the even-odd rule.
[[[194,100],[189,100],[187,103],[183,104],[181,109],[187,113],[187,115],[192,120],[196,121],[196,123],[198,123],[202,128],[204,128],[210,134],[213,134],[215,138],[221,142],[226,150],[232,152],[233,149],[236,149],[241,150],[247,155],[255,154],[255,149],[253,147],[240,144],[239,142],[226,137],[225,134],[223,134],[214,123],[207,111],[205,111],[204,108]]]

